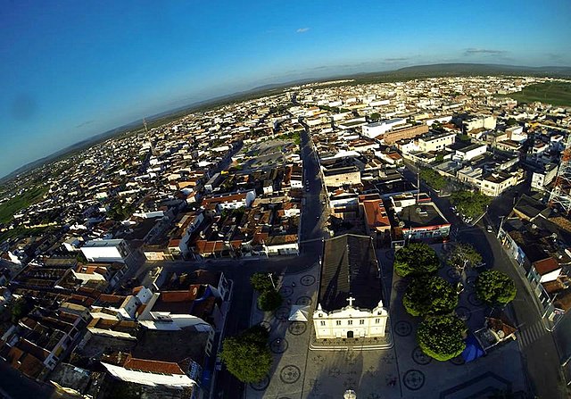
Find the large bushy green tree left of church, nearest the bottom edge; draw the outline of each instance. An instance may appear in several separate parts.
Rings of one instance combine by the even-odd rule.
[[[261,381],[269,373],[272,364],[268,338],[266,328],[249,328],[237,337],[224,339],[220,358],[228,371],[240,381]]]

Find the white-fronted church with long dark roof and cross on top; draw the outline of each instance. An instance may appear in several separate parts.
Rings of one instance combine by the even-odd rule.
[[[316,337],[385,337],[387,321],[371,237],[345,234],[326,240],[313,312]]]

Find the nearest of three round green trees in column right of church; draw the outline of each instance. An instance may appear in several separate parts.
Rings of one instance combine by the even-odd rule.
[[[428,317],[418,326],[418,346],[428,356],[445,362],[462,353],[465,332],[466,325],[456,316]]]

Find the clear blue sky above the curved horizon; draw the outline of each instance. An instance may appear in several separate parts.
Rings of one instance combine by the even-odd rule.
[[[570,20],[568,0],[0,0],[0,176],[269,83],[435,62],[571,65]]]

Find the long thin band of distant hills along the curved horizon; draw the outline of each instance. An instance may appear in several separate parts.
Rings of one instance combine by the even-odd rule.
[[[269,96],[277,94],[286,87],[292,87],[303,83],[310,83],[316,81],[327,81],[331,79],[354,79],[352,84],[372,83],[372,82],[385,82],[385,81],[398,81],[410,79],[426,79],[433,77],[446,77],[446,76],[483,76],[483,75],[526,75],[526,76],[550,76],[553,78],[569,78],[571,79],[571,67],[558,67],[558,66],[544,66],[544,67],[527,67],[517,65],[503,65],[503,64],[487,64],[487,63],[436,63],[430,65],[416,65],[401,68],[394,71],[380,71],[358,73],[352,75],[337,75],[322,79],[298,79],[295,81],[288,81],[284,83],[276,83],[264,85],[261,87],[254,87],[250,90],[245,90],[228,96],[219,96],[210,98],[201,102],[184,105],[167,112],[161,112],[147,117],[146,121],[149,129],[154,126],[174,121],[179,117],[190,112],[204,111],[224,104],[231,104],[238,101],[253,99],[261,96]],[[74,145],[70,145],[62,150],[50,154],[37,161],[30,162],[21,168],[12,171],[9,175],[0,179],[0,183],[12,179],[18,174],[32,170],[47,162],[65,156],[66,154],[77,152],[81,149],[87,148],[96,143],[102,142],[110,137],[120,135],[129,130],[137,130],[143,127],[143,121],[133,121],[119,128],[108,130],[94,137],[80,141]]]

